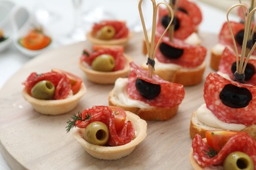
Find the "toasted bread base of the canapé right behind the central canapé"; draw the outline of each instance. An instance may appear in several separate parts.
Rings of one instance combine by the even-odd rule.
[[[174,82],[177,84],[182,84],[183,86],[194,86],[200,84],[203,79],[203,73],[205,70],[206,63],[203,63],[196,69],[157,69],[155,68],[154,73],[167,80],[169,82]],[[146,65],[142,65],[143,69],[148,69]]]

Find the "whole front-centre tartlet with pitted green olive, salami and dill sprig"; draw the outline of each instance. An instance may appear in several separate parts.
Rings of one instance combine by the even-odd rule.
[[[75,139],[100,160],[128,156],[146,137],[146,122],[118,107],[94,106],[74,114],[67,123],[67,131],[79,127]]]

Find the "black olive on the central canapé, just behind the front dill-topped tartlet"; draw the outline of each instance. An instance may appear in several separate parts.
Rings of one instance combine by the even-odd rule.
[[[140,78],[137,78],[135,86],[140,95],[142,95],[146,99],[154,99],[161,92],[160,84],[152,84]]]

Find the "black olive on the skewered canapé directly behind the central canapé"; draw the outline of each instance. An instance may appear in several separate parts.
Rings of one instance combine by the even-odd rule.
[[[170,59],[181,58],[181,56],[184,52],[183,49],[174,48],[173,46],[169,46],[165,42],[161,42],[159,49],[160,49],[161,54],[163,54],[164,56],[166,56],[167,58],[170,58]]]

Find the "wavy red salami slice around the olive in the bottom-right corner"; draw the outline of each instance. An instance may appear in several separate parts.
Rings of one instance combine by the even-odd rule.
[[[192,141],[192,148],[195,160],[202,167],[223,165],[223,161],[228,154],[240,151],[251,157],[254,163],[254,169],[256,169],[256,142],[246,133],[231,137],[213,158],[209,158],[209,156],[205,155],[205,151],[209,152],[209,146],[198,134]]]

